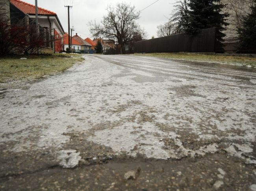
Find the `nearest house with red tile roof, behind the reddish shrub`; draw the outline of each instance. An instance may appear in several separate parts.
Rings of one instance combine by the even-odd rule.
[[[11,23],[25,22],[25,24],[35,23],[35,5],[23,2],[21,0],[10,0],[10,21]],[[46,39],[54,39],[46,47],[53,52],[63,50],[64,29],[56,13],[38,7],[39,32],[45,33]],[[43,30],[45,29],[45,30]],[[50,31],[50,32],[46,32]],[[51,40],[48,40],[48,42]]]

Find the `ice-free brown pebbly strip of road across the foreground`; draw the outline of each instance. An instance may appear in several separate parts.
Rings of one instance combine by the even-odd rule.
[[[126,179],[130,171],[139,173]],[[210,154],[195,159],[154,160],[113,158],[107,163],[82,165],[75,169],[53,167],[0,180],[1,190],[249,190],[255,169],[237,158]]]

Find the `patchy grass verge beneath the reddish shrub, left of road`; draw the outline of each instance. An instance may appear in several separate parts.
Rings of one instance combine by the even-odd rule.
[[[20,60],[20,58],[27,59]],[[76,54],[22,55],[0,58],[0,83],[35,80],[46,75],[54,75],[83,60],[82,55]]]

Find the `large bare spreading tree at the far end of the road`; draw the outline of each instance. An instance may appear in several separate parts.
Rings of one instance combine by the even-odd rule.
[[[140,13],[135,10],[135,6],[122,2],[115,7],[108,5],[107,11],[108,14],[100,23],[89,22],[90,32],[94,37],[103,35],[105,38],[116,39],[122,46],[138,35],[141,39],[145,36],[145,30],[136,22]]]

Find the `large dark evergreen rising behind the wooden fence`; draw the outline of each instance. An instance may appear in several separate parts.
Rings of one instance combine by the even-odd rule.
[[[221,0],[190,0],[189,3],[189,23],[186,32],[195,35],[200,29],[216,27],[218,38],[225,35],[221,33],[228,25],[226,21],[227,13],[221,13],[225,5]]]

